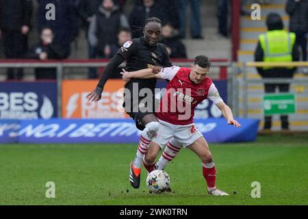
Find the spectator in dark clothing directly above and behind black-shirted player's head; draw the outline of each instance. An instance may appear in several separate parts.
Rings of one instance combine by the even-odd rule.
[[[142,27],[146,18],[155,16],[163,23],[168,23],[168,13],[166,13],[161,3],[154,0],[143,0],[142,5],[136,4],[129,16],[132,38],[140,38],[143,36]]]

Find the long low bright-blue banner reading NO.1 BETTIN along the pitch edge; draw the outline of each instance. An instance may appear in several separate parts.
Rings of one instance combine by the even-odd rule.
[[[224,118],[196,119],[207,142],[247,142],[257,136],[259,120],[238,119],[242,127]],[[140,131],[131,119],[0,120],[0,143],[138,143]]]

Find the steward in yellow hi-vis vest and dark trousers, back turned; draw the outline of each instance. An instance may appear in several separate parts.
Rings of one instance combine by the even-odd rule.
[[[298,61],[298,50],[295,47],[296,36],[294,33],[283,29],[281,16],[276,13],[268,14],[266,18],[268,31],[259,35],[259,42],[255,50],[256,62],[294,62]],[[261,67],[257,71],[261,77],[265,78],[292,78],[296,68],[285,66],[279,68]],[[274,93],[276,88],[279,92],[289,92],[290,83],[265,83],[266,93]],[[272,126],[272,116],[265,116],[264,129]],[[281,115],[281,128],[289,129],[288,118]]]

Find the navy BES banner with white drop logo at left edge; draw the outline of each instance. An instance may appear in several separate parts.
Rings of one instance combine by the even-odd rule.
[[[0,119],[57,117],[55,82],[0,82]]]

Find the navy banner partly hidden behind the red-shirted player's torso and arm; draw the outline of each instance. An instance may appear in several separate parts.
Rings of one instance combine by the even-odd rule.
[[[224,100],[224,103],[227,103],[227,80],[213,80],[220,97]],[[156,88],[166,88],[167,81],[165,80],[158,80]],[[162,94],[157,94],[156,98],[159,99],[159,96]],[[194,118],[221,118],[222,113],[216,107],[216,105],[205,99],[202,103],[200,103],[195,111],[194,111]]]

